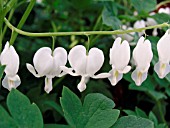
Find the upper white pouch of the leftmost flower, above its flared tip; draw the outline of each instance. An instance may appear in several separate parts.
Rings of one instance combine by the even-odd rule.
[[[1,64],[6,65],[5,73],[7,75],[13,76],[18,72],[19,56],[14,47],[9,45],[9,42],[6,43],[1,53]]]

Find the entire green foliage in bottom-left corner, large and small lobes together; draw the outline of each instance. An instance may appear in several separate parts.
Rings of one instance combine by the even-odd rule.
[[[7,97],[10,115],[0,107],[2,128],[43,128],[43,119],[36,104],[30,104],[29,99],[19,91],[12,89]]]

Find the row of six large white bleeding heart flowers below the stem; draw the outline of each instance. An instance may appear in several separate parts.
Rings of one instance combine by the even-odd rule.
[[[162,79],[170,72],[170,29],[161,37],[157,43],[159,61],[155,64],[154,70]],[[66,67],[67,57],[70,68]],[[136,47],[133,50],[136,69],[131,77],[137,86],[140,86],[147,78],[151,60],[153,58],[151,42],[144,37],[140,37]],[[17,75],[19,68],[19,56],[13,46],[7,42],[1,53],[0,61],[6,65],[6,76],[2,85],[9,91],[16,88],[21,81]],[[128,41],[118,37],[110,49],[110,65],[112,69],[109,73],[96,73],[101,69],[104,63],[104,54],[98,48],[91,48],[89,51],[82,45],[74,46],[69,54],[64,48],[58,47],[53,51],[48,47],[40,48],[33,57],[33,64],[26,64],[27,69],[35,77],[45,76],[44,90],[49,93],[52,90],[52,78],[62,77],[70,74],[72,76],[81,76],[77,88],[82,92],[86,89],[86,83],[89,78],[99,79],[108,78],[111,85],[116,85],[123,77],[123,74],[131,70],[130,46]]]

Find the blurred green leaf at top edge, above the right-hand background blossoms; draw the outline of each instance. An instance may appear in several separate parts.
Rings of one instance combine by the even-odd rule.
[[[134,8],[139,12],[150,12],[156,9],[156,0],[131,0]]]

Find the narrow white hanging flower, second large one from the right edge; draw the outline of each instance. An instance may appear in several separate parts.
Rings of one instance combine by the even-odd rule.
[[[136,69],[132,72],[131,76],[137,86],[140,86],[146,80],[152,57],[153,53],[150,41],[141,37],[133,50]]]

